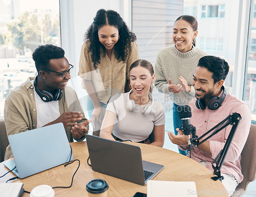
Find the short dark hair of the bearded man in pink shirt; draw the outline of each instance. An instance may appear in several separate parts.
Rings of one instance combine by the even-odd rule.
[[[214,83],[220,81],[221,79],[225,80],[229,71],[228,63],[216,56],[204,56],[199,59],[198,67],[206,68],[212,74]]]

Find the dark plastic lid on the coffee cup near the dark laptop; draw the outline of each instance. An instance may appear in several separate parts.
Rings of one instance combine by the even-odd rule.
[[[90,193],[103,193],[108,188],[108,183],[106,183],[103,179],[94,179],[86,186],[86,190]]]

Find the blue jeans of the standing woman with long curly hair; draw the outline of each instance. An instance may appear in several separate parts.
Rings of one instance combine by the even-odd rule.
[[[100,103],[101,110],[102,110],[102,117],[101,117],[101,123],[102,123],[102,121],[104,119],[104,116],[105,116],[106,104],[102,103],[102,102],[99,102],[99,103]],[[93,116],[92,116],[93,109],[94,109],[93,102],[92,102],[91,98],[88,96],[87,97],[87,113],[88,113],[88,116],[89,116],[90,119],[93,118]],[[95,128],[94,128],[93,122],[91,124],[92,124],[92,127],[93,127],[93,135],[99,136],[101,124],[99,124],[97,122]]]

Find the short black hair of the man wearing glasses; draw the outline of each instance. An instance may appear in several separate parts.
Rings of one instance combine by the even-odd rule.
[[[35,67],[37,72],[43,69],[49,69],[49,61],[51,59],[63,58],[65,51],[55,45],[41,45],[33,52],[33,60],[35,61]]]

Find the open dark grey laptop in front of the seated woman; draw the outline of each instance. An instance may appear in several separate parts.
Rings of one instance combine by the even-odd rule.
[[[86,135],[92,169],[125,181],[146,185],[163,165],[142,161],[141,148],[131,144]]]

